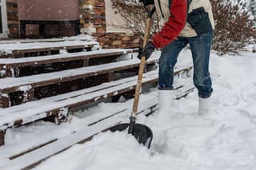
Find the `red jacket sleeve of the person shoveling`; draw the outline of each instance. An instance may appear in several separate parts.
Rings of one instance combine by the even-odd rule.
[[[186,26],[187,0],[173,0],[170,6],[171,15],[168,22],[154,35],[152,41],[157,48],[173,42]]]

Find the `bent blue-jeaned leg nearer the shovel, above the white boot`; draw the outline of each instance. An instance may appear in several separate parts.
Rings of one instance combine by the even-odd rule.
[[[158,89],[173,89],[174,65],[178,53],[187,45],[186,38],[177,38],[174,42],[162,49],[159,59],[159,87]]]

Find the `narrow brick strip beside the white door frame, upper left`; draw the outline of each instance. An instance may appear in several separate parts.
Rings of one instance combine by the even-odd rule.
[[[19,38],[18,25],[18,4],[17,0],[6,0],[7,25],[9,29],[9,38]]]

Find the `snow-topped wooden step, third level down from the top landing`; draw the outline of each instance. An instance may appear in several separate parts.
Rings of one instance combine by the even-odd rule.
[[[150,60],[146,61],[146,65],[154,65],[157,61],[158,57],[152,57]],[[69,69],[54,73],[43,73],[28,77],[2,78],[0,79],[0,107],[6,108],[12,106],[13,104],[10,103],[11,97],[20,96],[22,97],[21,103],[25,103],[27,101],[34,101],[35,97],[38,99],[38,97],[50,97],[63,93],[63,90],[57,91],[56,88],[54,89],[50,85],[62,85],[63,89],[66,88],[66,92],[69,92],[69,88],[71,88],[72,82],[74,82],[75,85],[86,86],[88,84],[93,86],[102,84],[103,82],[114,81],[116,78],[122,78],[121,76],[115,76],[117,73],[131,72],[136,74],[139,63],[140,61],[138,59],[134,59],[130,61],[119,61],[105,65]],[[70,84],[67,84],[66,82],[69,82]],[[50,88],[48,88],[49,86]],[[59,86],[57,88],[59,88]],[[82,88],[83,86],[81,89]],[[44,93],[42,90],[48,89],[54,91],[52,93],[47,93],[46,96],[42,96],[42,93]],[[38,95],[38,93],[36,93],[37,90],[41,90],[42,93]]]

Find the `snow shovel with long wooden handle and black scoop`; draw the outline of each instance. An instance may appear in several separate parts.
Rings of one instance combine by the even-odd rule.
[[[146,6],[145,6],[145,9],[147,12],[147,20],[146,20],[146,31],[144,35],[143,47],[145,47],[146,43],[149,40],[150,26],[152,21],[152,15],[154,14],[154,11],[155,11],[155,6],[153,7],[152,10],[148,10]],[[144,144],[147,148],[150,148],[150,144],[153,139],[153,133],[151,129],[146,125],[136,123],[136,117],[138,112],[138,101],[139,101],[139,95],[142,89],[142,75],[143,75],[145,62],[146,62],[146,57],[144,56],[141,58],[141,63],[139,65],[138,81],[135,89],[134,105],[133,105],[132,113],[130,115],[130,123],[115,125],[110,128],[110,131],[111,132],[124,131],[126,130],[126,128],[128,128],[128,134],[132,134],[140,144]]]

